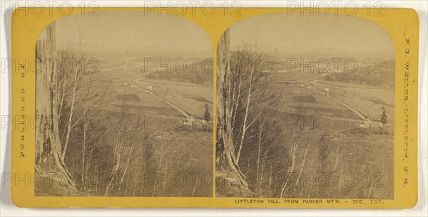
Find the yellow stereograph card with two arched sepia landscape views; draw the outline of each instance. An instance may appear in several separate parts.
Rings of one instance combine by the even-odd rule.
[[[26,10],[16,206],[417,203],[412,9]]]

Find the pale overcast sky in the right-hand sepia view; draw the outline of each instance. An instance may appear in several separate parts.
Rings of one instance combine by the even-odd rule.
[[[277,51],[310,52],[332,49],[350,53],[394,51],[392,40],[376,23],[355,16],[265,14],[230,28],[232,47],[259,43]]]

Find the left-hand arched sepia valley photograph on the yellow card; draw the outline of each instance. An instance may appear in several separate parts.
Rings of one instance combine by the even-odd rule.
[[[187,18],[75,14],[36,44],[35,196],[213,196],[213,46]]]

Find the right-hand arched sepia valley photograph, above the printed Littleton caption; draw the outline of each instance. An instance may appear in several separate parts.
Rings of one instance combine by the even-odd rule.
[[[394,43],[365,18],[309,15],[221,36],[215,196],[394,199]]]

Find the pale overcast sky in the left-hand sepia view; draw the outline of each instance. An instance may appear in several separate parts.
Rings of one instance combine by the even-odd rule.
[[[98,14],[58,19],[58,46],[81,42],[86,48],[96,50],[212,50],[207,33],[187,18],[143,11],[99,11]]]

